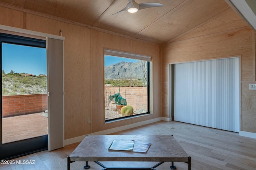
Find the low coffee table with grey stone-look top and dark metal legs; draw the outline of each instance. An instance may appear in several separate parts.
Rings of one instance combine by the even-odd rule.
[[[134,140],[135,142],[151,143],[146,154],[127,151],[109,151],[113,140]],[[182,149],[172,135],[87,135],[76,149],[68,156],[68,170],[70,163],[85,161],[85,169],[90,168],[88,161],[96,162],[102,170],[155,170],[164,162],[172,162],[171,169],[176,169],[174,162],[186,162],[191,170],[191,157]],[[159,162],[147,167],[106,167],[99,161],[143,161]]]

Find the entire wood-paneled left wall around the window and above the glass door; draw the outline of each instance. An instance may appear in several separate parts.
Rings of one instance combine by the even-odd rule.
[[[160,47],[0,6],[0,24],[60,35],[64,41],[65,139],[161,116]],[[154,114],[105,124],[104,49],[152,56]],[[91,123],[87,119],[91,118]]]

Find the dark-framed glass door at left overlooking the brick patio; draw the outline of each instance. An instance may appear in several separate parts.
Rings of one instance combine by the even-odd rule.
[[[0,34],[0,159],[48,149],[46,41]]]

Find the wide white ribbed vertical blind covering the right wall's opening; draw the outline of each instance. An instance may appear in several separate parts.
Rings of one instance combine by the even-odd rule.
[[[239,132],[239,57],[175,64],[174,120]]]

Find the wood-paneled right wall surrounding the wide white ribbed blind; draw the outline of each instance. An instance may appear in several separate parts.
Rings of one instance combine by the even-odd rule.
[[[162,47],[162,115],[169,111],[169,64],[242,57],[240,130],[256,133],[255,33],[230,8]]]

